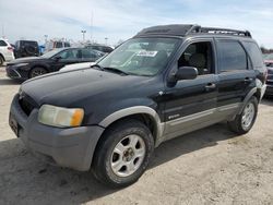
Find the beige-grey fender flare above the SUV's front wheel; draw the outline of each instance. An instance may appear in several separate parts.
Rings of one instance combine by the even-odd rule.
[[[115,121],[117,121],[117,120],[119,120],[121,118],[129,117],[129,116],[132,116],[132,114],[138,114],[138,113],[139,114],[141,114],[141,113],[149,114],[153,119],[153,121],[154,121],[154,123],[156,125],[155,140],[156,140],[156,142],[158,142],[158,140],[163,135],[164,123],[161,122],[161,118],[157,114],[157,112],[154,109],[152,109],[152,108],[150,108],[147,106],[133,106],[133,107],[129,107],[129,108],[118,110],[118,111],[107,116],[103,121],[100,121],[98,123],[98,125],[100,125],[103,128],[107,128],[112,122],[115,122]]]

